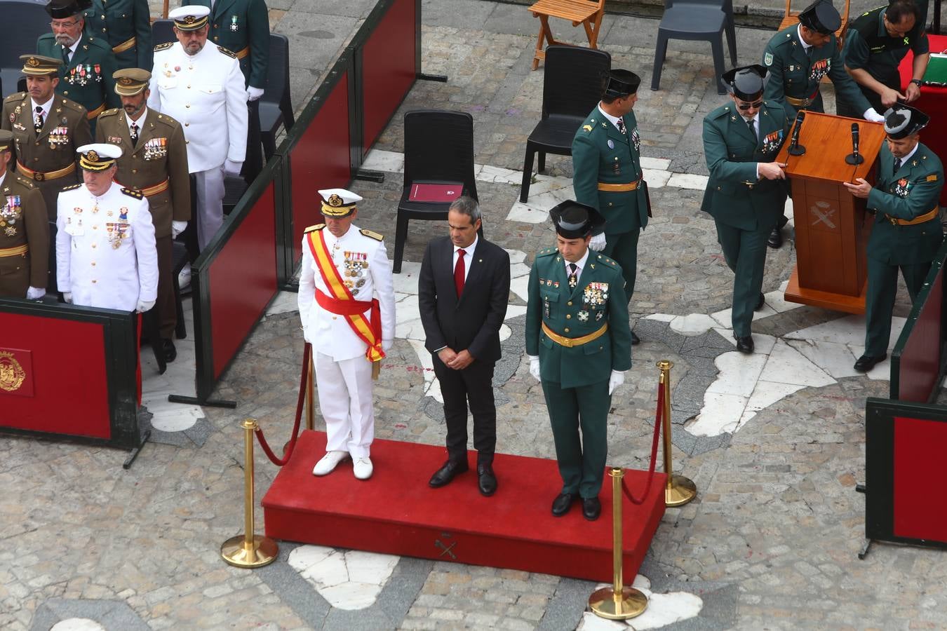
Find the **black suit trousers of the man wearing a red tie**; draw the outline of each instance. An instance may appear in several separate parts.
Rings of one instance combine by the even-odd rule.
[[[433,355],[434,374],[444,396],[444,420],[447,424],[447,457],[452,462],[467,462],[467,410],[474,415],[474,449],[477,464],[491,464],[496,449],[496,406],[493,403],[493,367],[495,362],[477,361],[463,370],[444,365]]]

